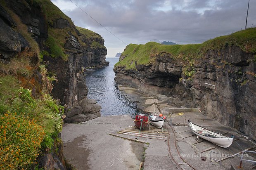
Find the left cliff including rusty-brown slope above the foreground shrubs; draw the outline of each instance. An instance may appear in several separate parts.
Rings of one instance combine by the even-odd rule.
[[[18,79],[34,99],[52,92],[65,107],[67,123],[101,116],[100,105],[87,99],[83,69],[108,66],[106,54],[99,34],[74,26],[50,0],[0,1],[0,78]],[[40,166],[64,169],[61,147],[61,142],[55,145],[58,153],[45,150]]]

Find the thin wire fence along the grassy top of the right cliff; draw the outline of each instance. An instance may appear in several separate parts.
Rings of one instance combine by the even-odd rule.
[[[256,27],[256,24],[251,24],[251,26],[249,26],[247,28],[255,28],[255,27]],[[242,30],[245,30],[245,28],[244,29],[241,28],[241,30],[239,30],[239,31],[242,31]],[[234,31],[232,33],[235,33],[235,32],[237,32],[237,31]],[[232,33],[225,34],[225,35],[230,35]],[[220,36],[223,36],[223,35],[220,35]],[[180,44],[183,44],[183,45],[184,44],[201,44],[201,43],[204,43],[205,41],[211,40],[211,39],[213,39],[213,38],[199,39],[199,40],[178,40],[178,41],[171,41],[171,42],[175,43],[175,44],[179,44],[179,45]],[[156,42],[156,43],[159,43],[159,44],[162,43],[161,41],[159,41],[157,39],[150,40],[150,42]]]

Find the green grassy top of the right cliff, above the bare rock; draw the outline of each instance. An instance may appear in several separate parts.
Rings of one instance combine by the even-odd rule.
[[[125,58],[115,66],[135,69],[135,61],[137,64],[149,65],[153,63],[156,54],[163,52],[169,53],[173,59],[180,58],[192,62],[196,58],[203,57],[208,50],[221,50],[226,46],[238,46],[245,52],[256,53],[256,28],[220,36],[202,44],[163,45],[154,42],[145,45],[129,44],[121,54]]]

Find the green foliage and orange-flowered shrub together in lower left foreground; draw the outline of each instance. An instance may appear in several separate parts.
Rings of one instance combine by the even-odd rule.
[[[49,94],[35,99],[20,85],[14,76],[0,76],[1,169],[30,169],[62,130],[64,107]]]

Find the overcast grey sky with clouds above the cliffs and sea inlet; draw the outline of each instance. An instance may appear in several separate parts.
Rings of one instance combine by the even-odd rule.
[[[248,0],[72,0],[126,45],[152,39],[194,43],[245,28]],[[107,57],[126,47],[70,0],[52,0],[76,26],[99,33]],[[256,0],[249,5],[247,27],[256,26]]]

